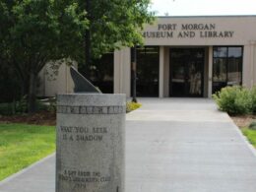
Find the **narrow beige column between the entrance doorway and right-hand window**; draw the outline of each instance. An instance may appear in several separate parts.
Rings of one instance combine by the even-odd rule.
[[[212,97],[212,89],[213,89],[213,57],[214,57],[214,49],[213,46],[209,46],[208,49],[208,97]]]

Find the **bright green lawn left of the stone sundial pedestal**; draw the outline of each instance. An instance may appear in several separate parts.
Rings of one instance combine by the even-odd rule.
[[[55,151],[55,127],[0,124],[0,180]]]

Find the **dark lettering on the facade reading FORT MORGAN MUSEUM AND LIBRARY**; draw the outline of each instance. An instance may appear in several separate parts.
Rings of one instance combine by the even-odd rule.
[[[145,38],[231,38],[234,32],[218,31],[216,24],[159,24],[156,31],[143,32]]]

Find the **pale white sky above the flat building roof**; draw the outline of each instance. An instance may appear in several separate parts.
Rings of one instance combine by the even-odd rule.
[[[152,0],[157,16],[256,15],[256,0]]]

